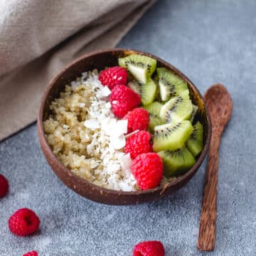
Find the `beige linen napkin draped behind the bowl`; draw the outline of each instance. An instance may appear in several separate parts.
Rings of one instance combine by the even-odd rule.
[[[1,0],[0,141],[36,120],[50,78],[116,46],[154,0]]]

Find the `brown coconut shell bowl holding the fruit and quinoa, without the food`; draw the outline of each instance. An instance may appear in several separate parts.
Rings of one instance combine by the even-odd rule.
[[[123,191],[114,191],[107,188],[102,188],[96,186],[93,183],[86,181],[83,178],[73,174],[68,168],[66,168],[53,154],[53,151],[50,149],[48,142],[46,141],[45,134],[43,132],[43,121],[45,121],[50,114],[50,103],[55,100],[56,97],[59,97],[60,92],[64,90],[65,85],[75,80],[80,76],[82,72],[87,70],[103,70],[105,67],[111,67],[117,64],[117,58],[130,55],[132,53],[147,55],[151,58],[157,60],[158,67],[165,67],[169,70],[179,75],[183,80],[186,80],[188,83],[188,88],[190,95],[194,104],[198,105],[198,119],[203,124],[203,134],[204,134],[204,146],[201,155],[198,157],[196,164],[183,176],[178,177],[175,181],[171,181],[165,186],[149,189],[146,191],[135,191],[135,192],[123,192]],[[46,87],[46,91],[43,94],[43,98],[40,105],[40,110],[38,113],[38,137],[43,150],[43,154],[46,156],[48,164],[53,169],[55,174],[60,178],[65,185],[73,189],[76,193],[79,193],[81,196],[88,198],[92,201],[106,203],[110,205],[132,205],[137,203],[144,203],[146,201],[152,201],[159,199],[161,197],[167,196],[170,193],[176,191],[181,186],[185,185],[196,171],[201,166],[203,159],[206,157],[208,147],[210,144],[210,135],[211,135],[211,123],[206,104],[203,102],[203,97],[198,92],[198,89],[193,82],[186,78],[181,71],[174,68],[174,66],[166,63],[164,60],[157,58],[154,55],[149,53],[143,53],[138,50],[127,50],[127,49],[110,49],[96,51],[94,53],[89,53],[83,55],[78,60],[73,61],[67,65],[63,70],[58,73],[58,75],[50,81],[49,85]]]

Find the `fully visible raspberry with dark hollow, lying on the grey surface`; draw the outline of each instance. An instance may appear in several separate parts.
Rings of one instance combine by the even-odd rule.
[[[40,220],[33,210],[22,208],[17,210],[9,218],[9,229],[11,233],[19,236],[26,236],[38,230]]]

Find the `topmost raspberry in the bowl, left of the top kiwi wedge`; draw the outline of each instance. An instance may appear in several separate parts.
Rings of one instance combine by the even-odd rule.
[[[102,70],[99,80],[102,85],[107,85],[112,90],[116,85],[127,84],[127,70],[118,66],[107,68],[106,70]]]

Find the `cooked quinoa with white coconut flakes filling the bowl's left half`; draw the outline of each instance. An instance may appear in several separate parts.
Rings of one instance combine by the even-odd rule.
[[[132,160],[122,150],[127,123],[115,119],[109,94],[96,70],[82,73],[51,103],[44,132],[55,156],[78,176],[105,188],[135,191]]]

